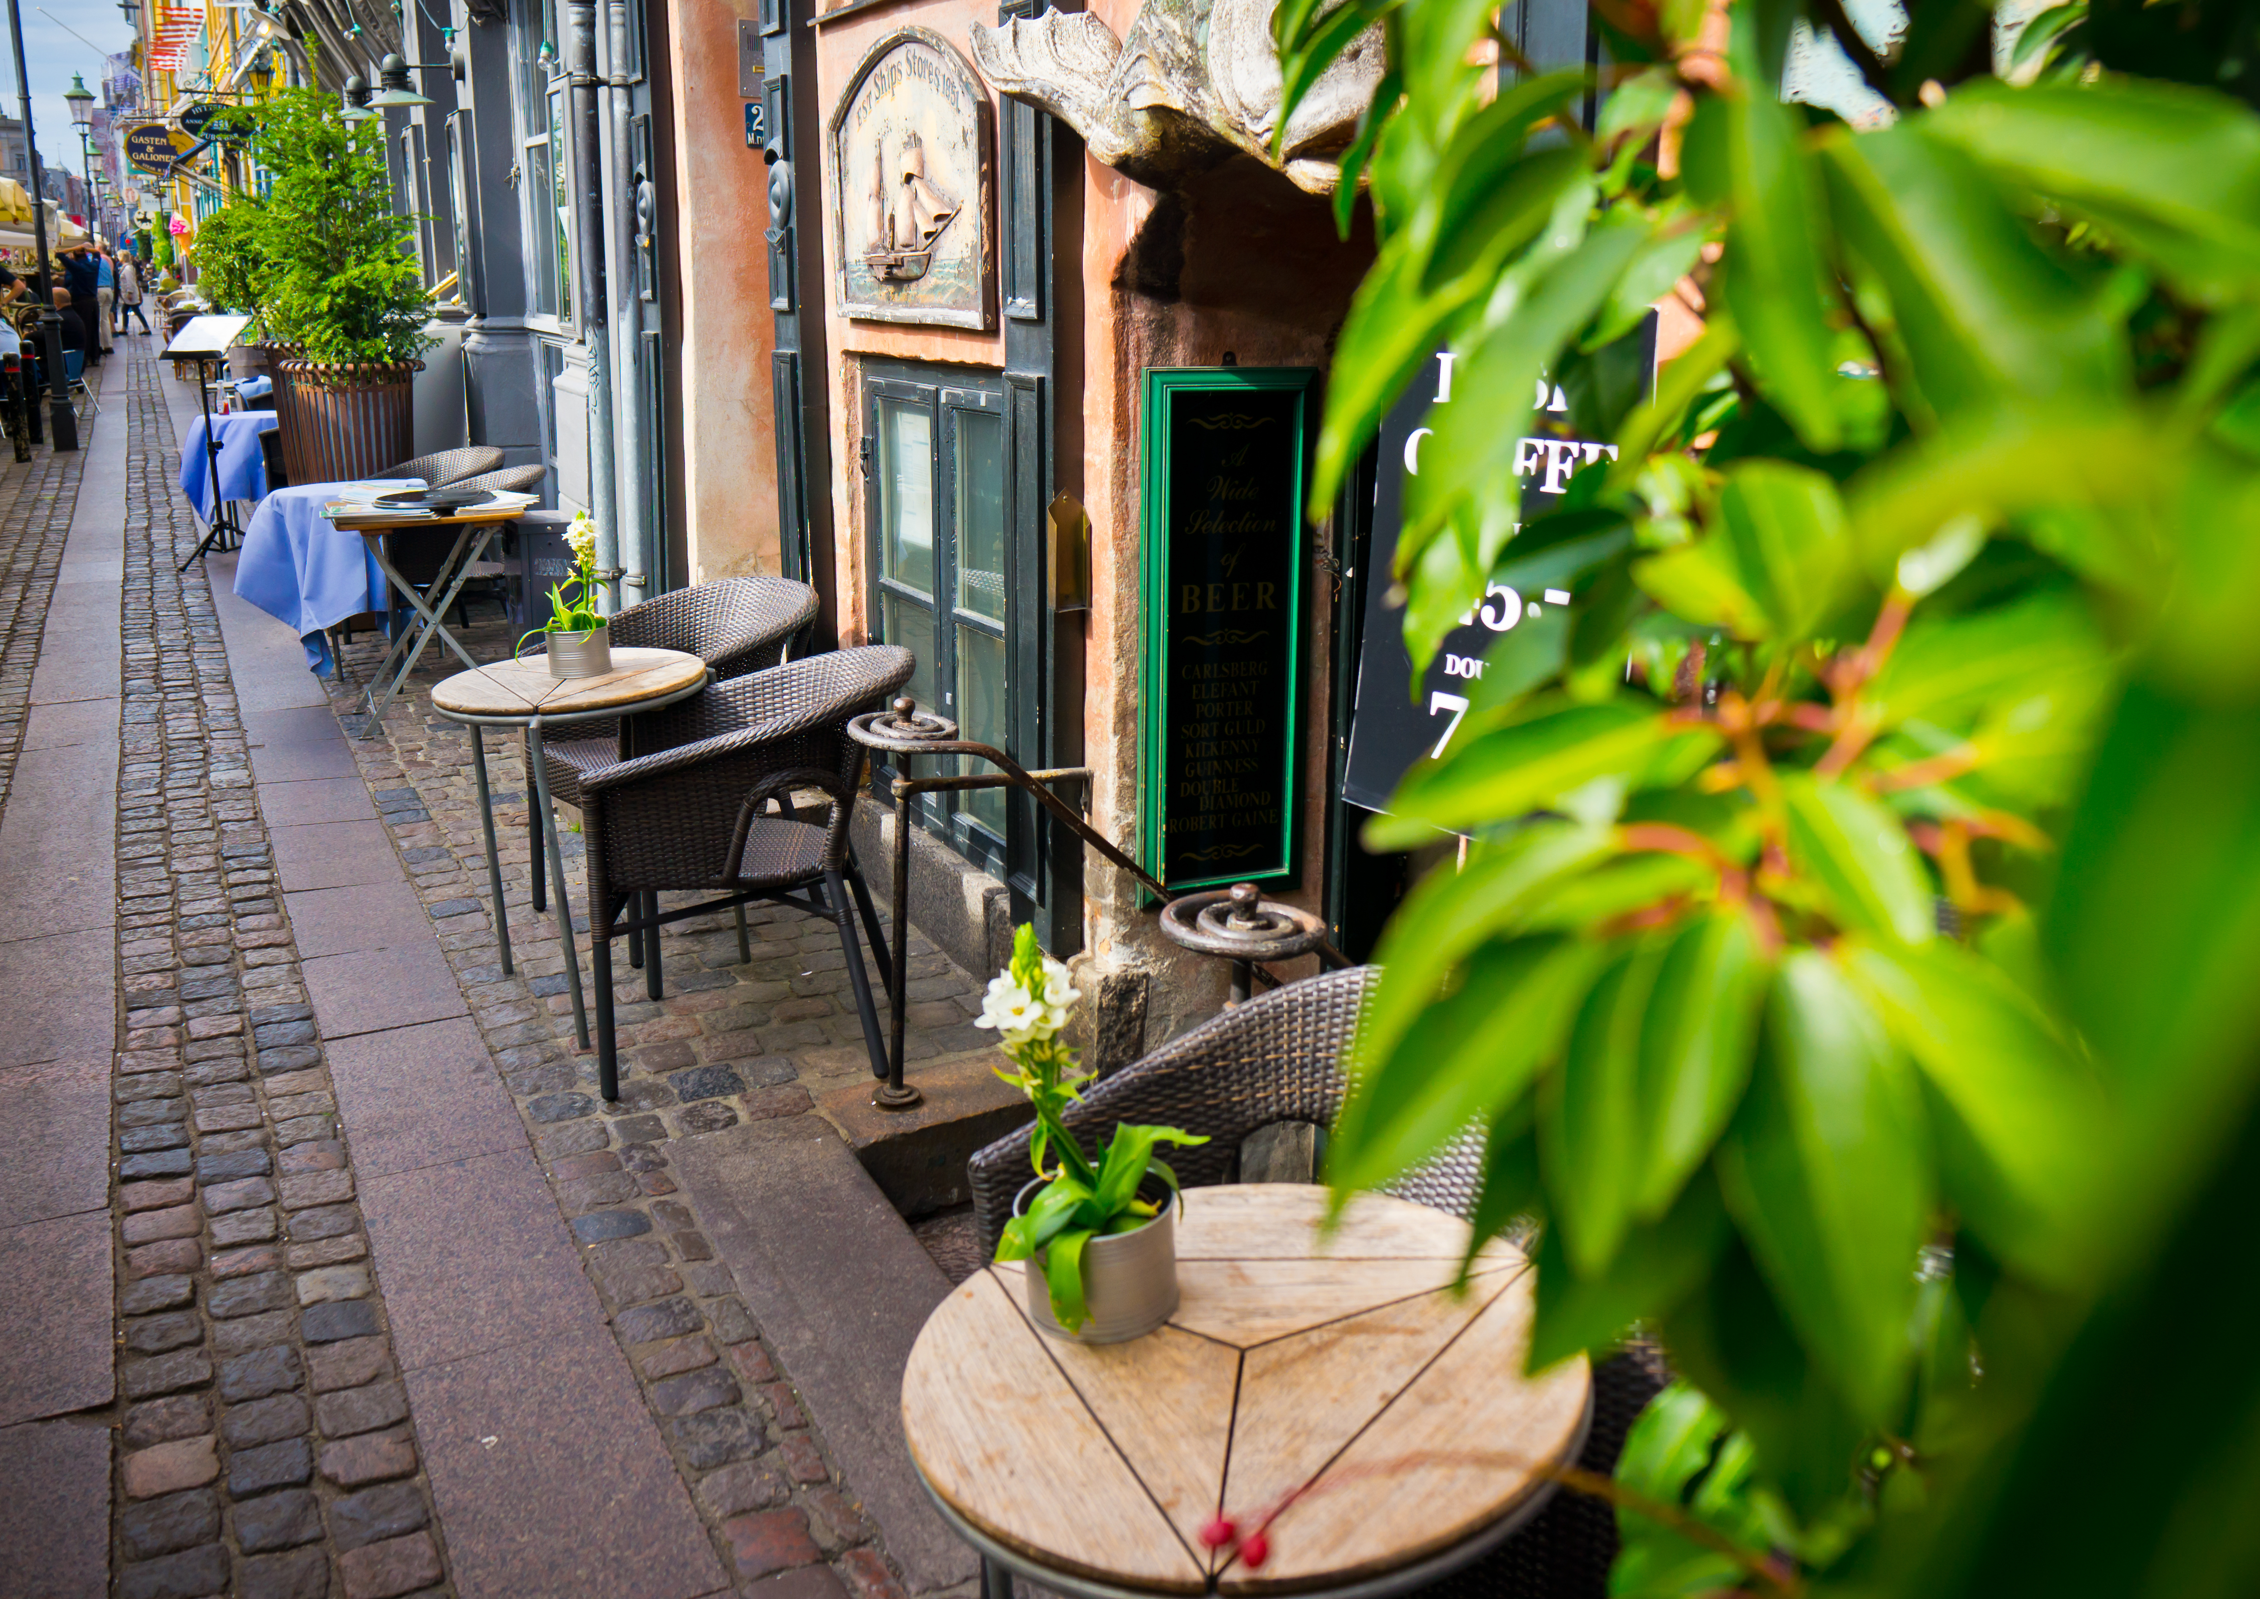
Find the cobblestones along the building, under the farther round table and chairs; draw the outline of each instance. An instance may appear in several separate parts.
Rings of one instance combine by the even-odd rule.
[[[481,606],[457,629],[481,660],[511,633]],[[660,939],[667,997],[615,950],[619,1101],[597,1095],[592,1054],[574,1049],[565,959],[551,916],[531,909],[522,744],[488,735],[504,898],[518,975],[504,977],[488,916],[488,875],[466,728],[432,712],[432,685],[459,669],[429,651],[371,728],[355,710],[382,640],[357,638],[330,688],[332,708],[400,848],[472,1018],[533,1133],[558,1205],[612,1316],[673,1459],[739,1579],[829,1563],[861,1599],[902,1590],[854,1486],[793,1395],[791,1373],[759,1337],[725,1264],[667,1172],[676,1138],[750,1120],[800,1117],[811,1095],[868,1083],[870,1063],[847,993],[838,934],[782,907],[748,907],[753,963],[739,963],[728,914],[673,923]],[[560,807],[574,927],[585,934],[581,839]],[[692,902],[692,900],[669,900]],[[588,939],[579,939],[583,977]],[[911,934],[911,1063],[990,1052],[970,1025],[981,982]],[[886,1018],[881,995],[881,1020]],[[960,1237],[965,1235],[965,1237]],[[970,1244],[963,1226],[951,1251]],[[936,1251],[938,1255],[942,1251]],[[947,1267],[958,1264],[951,1257]],[[954,1278],[963,1271],[954,1271]]]

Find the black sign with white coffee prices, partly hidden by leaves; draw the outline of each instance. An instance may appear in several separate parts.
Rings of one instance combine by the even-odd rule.
[[[1657,317],[1627,335],[1620,348],[1636,362],[1636,382],[1654,391]],[[1412,387],[1381,423],[1374,479],[1374,538],[1365,554],[1365,631],[1358,647],[1358,699],[1349,717],[1349,758],[1342,762],[1342,798],[1365,810],[1388,810],[1390,794],[1417,764],[1431,764],[1451,749],[1460,721],[1474,703],[1476,685],[1489,667],[1492,647],[1516,629],[1568,629],[1571,590],[1566,577],[1525,579],[1530,593],[1489,584],[1483,599],[1444,636],[1435,658],[1412,692],[1412,651],[1406,649],[1403,608],[1390,604],[1390,572],[1403,529],[1406,484],[1419,475],[1435,407],[1451,405],[1453,353],[1437,351]],[[1614,457],[1616,446],[1575,439],[1559,418],[1568,400],[1541,387],[1532,434],[1514,450],[1523,486],[1523,516],[1539,516],[1568,491],[1577,468]],[[1512,545],[1510,545],[1512,552]],[[1571,556],[1573,559],[1573,556]],[[1562,584],[1562,586],[1557,586]]]

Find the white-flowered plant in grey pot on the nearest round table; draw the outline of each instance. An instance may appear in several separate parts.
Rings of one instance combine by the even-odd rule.
[[[1001,1036],[1015,1070],[997,1072],[1028,1095],[1035,1181],[1019,1192],[997,1260],[1033,1260],[1028,1316],[1044,1332],[1083,1343],[1121,1343],[1159,1328],[1177,1310],[1177,1174],[1157,1144],[1205,1144],[1175,1126],[1114,1129],[1092,1160],[1060,1120],[1092,1072],[1060,1040],[1083,995],[1067,966],[1044,954],[1035,930],[1012,934],[1012,963],[990,979],[974,1027]]]

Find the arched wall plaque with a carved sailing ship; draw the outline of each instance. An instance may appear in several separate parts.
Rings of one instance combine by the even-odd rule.
[[[947,38],[906,27],[870,47],[832,111],[843,314],[990,326],[988,129],[988,97]]]

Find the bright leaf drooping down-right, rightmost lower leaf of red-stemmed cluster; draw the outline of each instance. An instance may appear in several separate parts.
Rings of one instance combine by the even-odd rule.
[[[1946,1201],[2000,1260],[2075,1285],[2111,1169],[2093,1072],[2029,995],[1955,943],[1837,954],[1923,1070]]]

